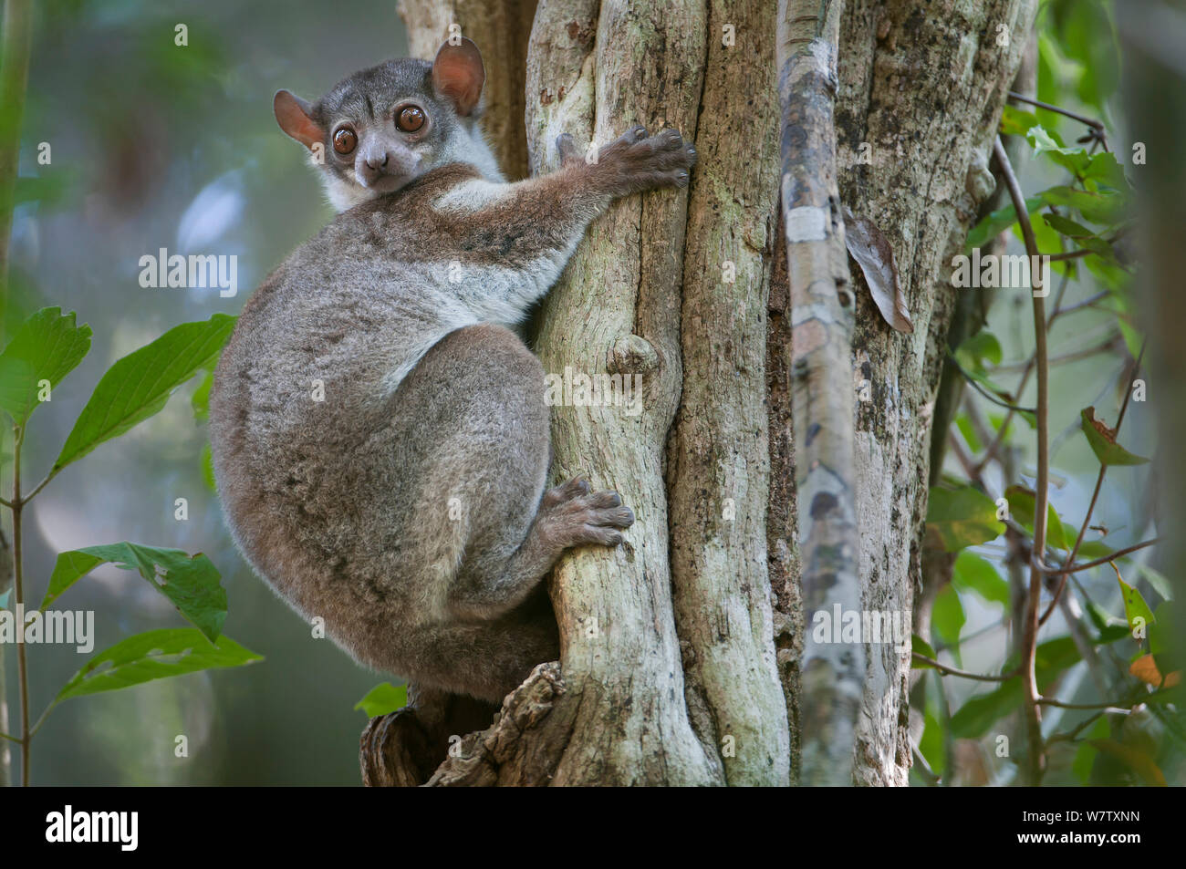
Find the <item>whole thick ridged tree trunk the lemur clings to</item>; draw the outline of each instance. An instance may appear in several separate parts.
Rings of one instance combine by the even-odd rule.
[[[525,5],[482,8],[479,19],[476,4],[404,0],[402,14],[420,56],[457,23],[482,47],[487,75],[511,81],[509,68],[525,62],[531,173],[555,165],[560,133],[604,143],[635,123],[694,138],[700,162],[687,192],[616,202],[541,319],[546,371],[642,381],[638,415],[621,407],[553,413],[554,478],[585,473],[621,492],[638,516],[627,543],[579,550],[557,566],[549,589],[561,660],[537,667],[491,727],[454,740],[433,771],[428,747],[444,745],[440,734],[460,736],[448,728],[461,718],[413,692],[408,710],[364,733],[364,780],[789,784],[801,731],[804,745],[818,734],[798,686],[804,621],[788,365],[796,314],[776,215],[774,4],[541,0],[525,56],[516,37],[472,24],[512,21]],[[991,192],[981,179],[1032,19],[1032,0],[852,0],[840,20],[841,200],[891,241],[914,322],[913,334],[892,332],[853,270],[853,354],[842,364],[849,384],[854,370],[872,382],[872,401],[857,402],[854,390],[840,403],[853,408],[850,543],[861,606],[907,624],[955,306],[944,263]],[[487,129],[517,135],[514,101],[487,101]],[[514,151],[499,152],[510,174]],[[855,782],[903,785],[908,648],[869,645],[865,659],[855,736],[835,749],[852,755]]]

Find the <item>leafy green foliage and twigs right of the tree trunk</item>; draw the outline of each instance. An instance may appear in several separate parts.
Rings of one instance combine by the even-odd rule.
[[[1152,536],[1143,533],[1144,505],[1136,503],[1143,496],[1134,494],[1142,490],[1147,479],[1142,466],[1148,462],[1130,449],[1134,429],[1121,435],[1093,407],[1079,411],[1089,402],[1104,404],[1112,397],[1118,407],[1115,411],[1110,404],[1105,408],[1108,418],[1127,418],[1120,408],[1129,416],[1144,411],[1137,403],[1144,400],[1144,384],[1136,390],[1137,378],[1144,376],[1139,363],[1143,338],[1133,317],[1129,178],[1137,170],[1128,165],[1128,153],[1117,146],[1109,123],[1110,101],[1120,82],[1114,9],[1108,2],[1042,0],[1037,100],[1060,110],[1019,98],[1006,106],[1000,123],[1001,135],[1014,136],[1022,154],[1020,162],[1012,160],[1022,167],[1019,174],[1040,173],[1045,179],[1027,185],[1034,190],[1026,191],[1025,209],[1038,253],[1052,257],[1057,276],[1046,288],[1045,325],[1052,345],[1046,362],[1052,369],[1065,364],[1091,372],[1090,378],[1063,376],[1058,391],[1047,392],[1046,403],[1050,483],[1046,551],[1040,555],[1046,563],[1075,562],[1078,568]],[[1012,242],[1013,249],[1018,244],[1013,239],[1022,238],[1012,198],[976,223],[967,247],[983,255],[997,238]],[[1019,312],[1029,307],[1027,298],[1009,301],[1016,302]],[[1033,570],[1039,485],[1035,433],[1013,422],[1018,416],[1031,418],[1025,405],[1035,403],[1032,378],[1038,357],[1031,352],[1032,331],[1010,328],[1018,319],[1024,321],[990,313],[984,325],[991,324],[991,331],[973,328],[951,352],[949,365],[970,388],[963,391],[958,411],[945,420],[948,432],[936,432],[937,439],[955,441],[959,453],[958,460],[952,456],[943,466],[944,481],[931,488],[926,515],[923,575],[927,581],[938,577],[939,583],[927,639],[937,653],[924,638],[914,638],[917,653],[996,680],[969,682],[914,659],[916,667],[932,670],[925,676],[918,752],[948,784],[958,784],[962,753],[952,743],[984,741],[982,756],[991,754],[1000,761],[990,765],[995,781],[1013,780],[1009,767],[1031,748],[1024,727],[1024,709],[1031,699],[1020,672],[1022,658],[1015,651],[1026,640],[1026,607],[1021,605],[1029,603],[1042,625],[1041,641],[1033,648],[1044,704],[1039,747],[1047,760],[1059,743],[1072,748],[1070,768],[1052,763],[1046,779],[1057,784],[1181,784],[1186,781],[1186,720],[1181,717],[1186,689],[1180,684],[1182,662],[1175,659],[1172,641],[1173,626],[1180,622],[1174,621],[1169,579],[1146,563],[1156,550],[1140,549],[1065,575],[1041,577]],[[1080,325],[1085,321],[1096,322],[1091,334],[1103,334],[1105,340],[1092,344],[1085,338],[1090,331]],[[1065,341],[1061,347],[1060,341]],[[1020,360],[1009,360],[1019,354]],[[1104,383],[1099,368],[1109,358],[1116,358],[1118,370]],[[1090,452],[1083,449],[1084,439]],[[1005,522],[995,520],[997,497],[1008,506]],[[1134,517],[1130,525],[1115,522],[1124,499]],[[942,551],[933,549],[936,541],[942,542]],[[1114,569],[1115,581],[1110,579]],[[950,582],[944,584],[945,580]],[[1065,608],[1054,606],[1056,594],[1076,600]],[[1080,652],[1072,632],[1078,643],[1093,646],[1091,654]],[[973,658],[970,640],[981,635],[984,639]],[[986,646],[995,650],[987,662],[980,651]],[[1086,678],[1089,670],[1092,678]],[[1002,742],[1002,736],[1009,739]],[[952,760],[956,768],[945,768]]]

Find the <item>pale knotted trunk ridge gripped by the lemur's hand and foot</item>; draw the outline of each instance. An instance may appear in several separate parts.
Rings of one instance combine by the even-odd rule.
[[[554,159],[561,132],[608,142],[636,123],[696,127],[703,7],[619,1],[602,2],[595,23],[587,15],[581,0],[546,1],[536,14],[527,90],[540,95],[527,115],[534,172]],[[595,38],[581,41],[582,33]],[[561,75],[541,64],[549,55],[563,56]],[[549,89],[556,98],[546,101]],[[550,717],[572,718],[553,784],[723,781],[720,758],[689,721],[668,563],[663,447],[682,377],[686,207],[687,194],[676,191],[616,202],[589,228],[544,305],[538,352],[546,371],[640,375],[644,386],[643,411],[633,418],[620,408],[553,414],[554,477],[587,472],[638,516],[621,548],[575,551],[553,575],[567,691]]]

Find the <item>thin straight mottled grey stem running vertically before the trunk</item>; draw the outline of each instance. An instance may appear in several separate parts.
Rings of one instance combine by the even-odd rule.
[[[839,0],[780,0],[783,234],[791,305],[790,353],[801,584],[809,631],[802,660],[799,781],[847,785],[860,711],[865,650],[833,632],[816,641],[815,616],[839,622],[861,608],[856,575],[853,402],[849,358],[853,294],[836,189]]]

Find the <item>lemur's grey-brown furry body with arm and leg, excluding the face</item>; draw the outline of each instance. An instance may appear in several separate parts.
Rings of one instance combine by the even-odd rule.
[[[314,104],[326,126],[414,97],[442,138],[256,290],[215,376],[211,445],[237,544],[298,612],[363,664],[498,702],[559,654],[540,580],[633,522],[581,480],[544,492],[543,370],[509,326],[612,197],[686,185],[695,151],[636,128],[591,166],[562,138],[559,172],[502,184],[429,71],[383,64]]]

